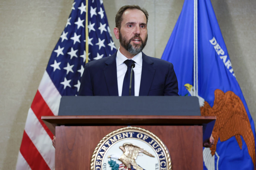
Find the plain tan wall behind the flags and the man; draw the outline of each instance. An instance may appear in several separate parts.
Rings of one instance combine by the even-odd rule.
[[[137,4],[146,8],[149,12],[149,38],[143,51],[161,58],[183,2],[105,0],[104,7],[111,30],[121,6]],[[28,109],[50,54],[65,27],[72,3],[72,0],[1,1],[0,169],[15,169]],[[256,121],[256,1],[212,0],[212,5],[237,81]],[[119,46],[118,41],[114,42]]]

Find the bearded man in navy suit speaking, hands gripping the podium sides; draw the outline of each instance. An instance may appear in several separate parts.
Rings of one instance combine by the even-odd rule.
[[[132,59],[135,61],[133,95],[178,96],[178,82],[172,63],[141,52],[147,42],[147,20],[147,11],[137,5],[119,9],[114,34],[120,41],[120,48],[112,56],[85,65],[79,95],[123,96],[123,82],[128,70],[124,62]],[[211,135],[203,146],[211,147],[213,144]],[[55,147],[55,136],[52,145]]]

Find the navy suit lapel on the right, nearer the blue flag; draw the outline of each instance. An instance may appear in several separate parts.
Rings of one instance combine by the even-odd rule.
[[[142,53],[142,71],[141,71],[141,85],[139,96],[147,96],[151,87],[153,77],[155,74],[155,68],[152,66],[153,61],[150,57]]]

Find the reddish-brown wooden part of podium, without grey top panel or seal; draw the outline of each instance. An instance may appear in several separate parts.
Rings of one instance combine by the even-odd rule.
[[[42,120],[56,136],[56,170],[91,169],[91,156],[99,141],[126,126],[141,127],[158,136],[169,150],[172,169],[180,170],[203,169],[203,137],[210,136],[216,117],[87,115],[42,116]]]

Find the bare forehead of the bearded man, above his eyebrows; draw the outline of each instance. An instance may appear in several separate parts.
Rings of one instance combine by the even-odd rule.
[[[127,22],[147,23],[145,14],[138,9],[126,9],[123,13],[122,18],[122,24],[125,24]]]

